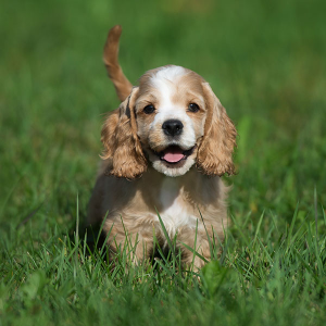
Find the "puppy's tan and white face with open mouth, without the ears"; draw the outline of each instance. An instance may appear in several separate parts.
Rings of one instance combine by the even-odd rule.
[[[184,175],[196,162],[204,135],[203,79],[180,66],[148,72],[135,101],[137,135],[153,167]]]

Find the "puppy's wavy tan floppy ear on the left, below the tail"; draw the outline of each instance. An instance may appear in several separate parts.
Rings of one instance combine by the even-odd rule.
[[[138,87],[109,115],[101,133],[104,145],[101,158],[111,161],[109,173],[128,179],[140,176],[147,170],[147,161],[137,136],[134,108],[137,93]]]

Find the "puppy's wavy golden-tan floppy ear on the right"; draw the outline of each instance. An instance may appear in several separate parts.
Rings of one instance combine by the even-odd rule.
[[[208,83],[203,83],[208,108],[204,136],[198,149],[197,165],[206,175],[235,174],[233,162],[237,130]]]

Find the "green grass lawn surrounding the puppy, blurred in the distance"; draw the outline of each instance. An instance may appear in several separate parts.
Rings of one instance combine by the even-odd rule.
[[[0,325],[324,325],[325,3],[134,2],[1,5]],[[102,114],[118,104],[101,62],[117,23],[133,83],[189,67],[239,133],[233,226],[199,277],[177,253],[128,268],[123,253],[113,269],[84,241]]]

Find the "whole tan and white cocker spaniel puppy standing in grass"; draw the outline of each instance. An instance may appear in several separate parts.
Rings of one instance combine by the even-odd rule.
[[[186,265],[193,252],[183,243],[209,260],[210,240],[222,241],[228,224],[221,176],[235,172],[236,128],[210,85],[190,70],[151,70],[133,87],[118,65],[120,35],[120,26],[110,30],[104,63],[122,103],[102,128],[88,223],[105,218],[110,249],[116,252],[127,237],[137,244],[137,263],[152,254],[153,236],[167,246],[159,213]],[[203,264],[196,255],[195,266]]]

